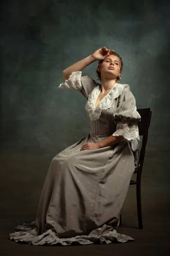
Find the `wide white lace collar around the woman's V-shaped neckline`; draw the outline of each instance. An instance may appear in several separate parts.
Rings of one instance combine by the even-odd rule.
[[[128,84],[118,84],[116,83],[111,90],[101,99],[99,104],[95,107],[96,99],[99,96],[99,93],[101,92],[101,84],[96,83],[97,86],[94,87],[92,92],[88,96],[88,101],[85,105],[85,110],[88,112],[89,118],[91,121],[99,119],[102,110],[106,110],[108,108],[111,108],[111,105],[113,104],[113,100],[119,97],[119,95],[122,93],[122,90],[124,87],[127,87],[130,89],[130,86]]]

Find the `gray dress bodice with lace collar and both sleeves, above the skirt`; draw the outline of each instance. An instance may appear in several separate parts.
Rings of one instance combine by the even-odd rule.
[[[137,122],[141,116],[136,110],[136,100],[128,84],[116,83],[96,107],[101,84],[87,74],[82,75],[81,71],[72,72],[59,88],[78,90],[85,96],[85,111],[90,119],[93,138],[104,139],[112,134],[122,135],[129,142],[140,140]]]

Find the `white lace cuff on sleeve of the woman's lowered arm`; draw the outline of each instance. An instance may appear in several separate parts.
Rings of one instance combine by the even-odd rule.
[[[116,131],[113,136],[122,135],[125,140],[130,141],[134,139],[140,140],[138,125],[134,121],[119,121],[116,126]]]

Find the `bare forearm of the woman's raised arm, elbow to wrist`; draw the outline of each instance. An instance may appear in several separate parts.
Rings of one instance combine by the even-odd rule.
[[[71,65],[70,67],[66,68],[62,71],[63,78],[68,79],[72,72],[74,71],[82,71],[85,67],[87,67],[92,62],[96,61],[92,55],[82,59],[81,61],[76,62],[75,64]]]

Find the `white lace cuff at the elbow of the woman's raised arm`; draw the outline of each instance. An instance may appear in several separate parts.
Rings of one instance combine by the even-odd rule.
[[[62,84],[59,84],[59,88],[80,90],[82,88],[81,75],[82,75],[82,71],[72,72],[68,80],[65,79],[65,81],[62,82]]]

